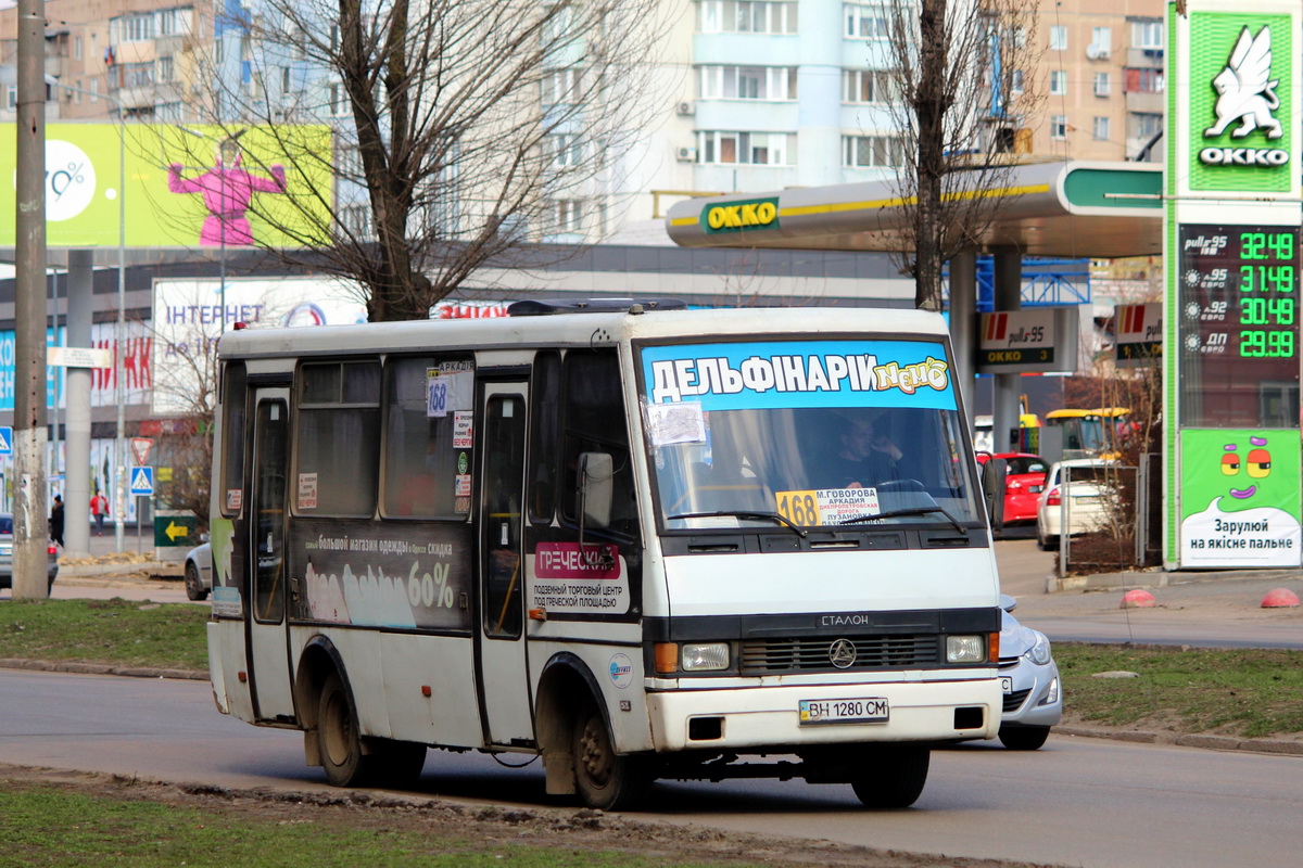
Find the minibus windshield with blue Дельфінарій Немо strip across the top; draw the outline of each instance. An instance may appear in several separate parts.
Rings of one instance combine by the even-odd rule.
[[[667,531],[982,521],[934,340],[657,345],[641,366]]]

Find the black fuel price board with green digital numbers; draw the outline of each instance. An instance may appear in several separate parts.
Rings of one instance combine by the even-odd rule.
[[[1182,426],[1280,424],[1263,387],[1299,381],[1299,228],[1182,224]]]

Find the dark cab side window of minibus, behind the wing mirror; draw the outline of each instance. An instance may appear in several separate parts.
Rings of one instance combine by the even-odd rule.
[[[633,467],[629,462],[628,427],[620,394],[620,363],[614,351],[572,350],[566,354],[564,442],[562,467],[562,515],[576,524],[575,492],[579,457],[585,452],[611,455],[615,492],[611,504],[610,534],[637,536],[637,504],[633,496]]]

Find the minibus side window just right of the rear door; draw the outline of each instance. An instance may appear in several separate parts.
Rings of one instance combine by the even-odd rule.
[[[298,375],[296,515],[370,517],[380,458],[380,364],[304,364]]]

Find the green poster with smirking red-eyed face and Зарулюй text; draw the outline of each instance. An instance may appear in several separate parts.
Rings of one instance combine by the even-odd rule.
[[[1181,565],[1296,567],[1298,429],[1181,431]]]

